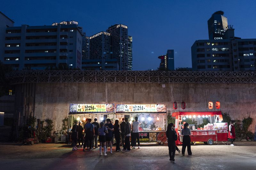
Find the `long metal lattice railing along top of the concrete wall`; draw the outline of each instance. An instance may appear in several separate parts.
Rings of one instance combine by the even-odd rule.
[[[255,71],[20,70],[5,75],[22,83],[256,83]]]

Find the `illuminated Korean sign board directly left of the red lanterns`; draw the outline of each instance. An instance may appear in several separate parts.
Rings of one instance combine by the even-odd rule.
[[[146,105],[116,105],[116,113],[123,112],[166,112],[165,104],[146,104]]]

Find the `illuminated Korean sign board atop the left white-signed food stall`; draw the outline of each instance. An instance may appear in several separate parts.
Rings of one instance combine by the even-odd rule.
[[[76,112],[114,112],[114,104],[70,104],[69,113]]]

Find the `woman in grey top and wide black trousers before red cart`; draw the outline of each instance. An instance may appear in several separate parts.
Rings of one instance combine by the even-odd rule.
[[[181,130],[181,135],[183,135],[183,144],[182,144],[182,149],[181,149],[181,154],[182,156],[185,156],[185,151],[186,151],[186,147],[188,147],[188,155],[192,155],[191,152],[191,140],[190,140],[190,136],[191,132],[190,129],[188,128],[189,124],[185,123],[184,124],[184,128]]]

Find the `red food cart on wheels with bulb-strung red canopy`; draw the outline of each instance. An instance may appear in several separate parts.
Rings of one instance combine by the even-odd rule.
[[[228,141],[228,123],[222,123],[222,115],[221,111],[215,112],[174,112],[172,116],[175,117],[175,130],[177,134],[179,134],[179,138],[176,141],[176,144],[182,144],[182,135],[181,135],[181,122],[186,121],[189,118],[210,118],[212,122],[212,117],[214,117],[215,123],[209,123],[207,125],[200,128],[195,128],[195,126],[191,129],[190,139],[191,142],[204,142],[205,144],[212,145],[214,142],[224,142]],[[215,119],[215,117],[219,117],[219,119]],[[219,120],[219,122],[216,122]],[[180,123],[180,125],[179,125]]]

